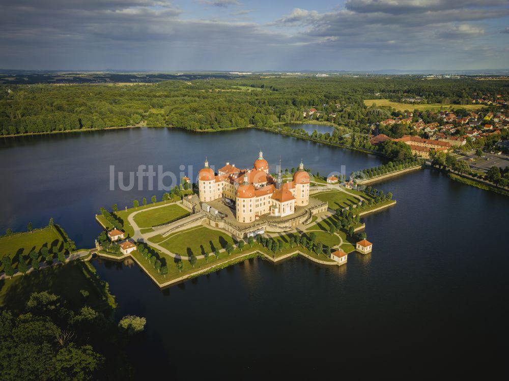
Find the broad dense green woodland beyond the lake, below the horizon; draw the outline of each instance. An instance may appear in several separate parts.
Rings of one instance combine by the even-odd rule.
[[[144,124],[189,130],[271,127],[302,121],[316,107],[321,120],[366,132],[389,111],[364,99],[420,96],[428,103],[466,104],[473,94],[509,94],[509,81],[473,78],[303,77],[168,80],[154,84],[0,85],[0,134],[103,129]],[[340,106],[336,106],[340,104]],[[461,107],[461,106],[459,106]],[[409,109],[418,108],[410,105]],[[336,113],[334,118],[327,116]]]

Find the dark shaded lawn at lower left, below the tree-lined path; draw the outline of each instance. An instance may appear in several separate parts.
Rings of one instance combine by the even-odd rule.
[[[83,304],[83,296],[79,290],[87,290],[89,296],[86,304],[94,309],[107,308],[99,291],[84,275],[83,266],[79,261],[72,261],[64,266],[34,271],[12,279],[0,280],[0,307],[18,310],[24,306],[32,292],[48,291],[60,295],[71,309]]]

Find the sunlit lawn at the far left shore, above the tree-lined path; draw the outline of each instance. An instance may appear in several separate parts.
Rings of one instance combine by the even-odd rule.
[[[58,246],[62,250],[63,239],[55,228],[45,227],[33,232],[20,233],[11,237],[0,238],[0,257],[9,255],[12,258],[13,267],[17,268],[18,254],[23,254],[25,260],[31,251],[39,252],[41,248]],[[42,261],[42,256],[39,257]],[[0,272],[4,271],[4,265],[0,262]]]

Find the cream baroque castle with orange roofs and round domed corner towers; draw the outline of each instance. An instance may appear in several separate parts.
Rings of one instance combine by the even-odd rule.
[[[261,151],[252,169],[240,169],[235,164],[226,163],[215,174],[206,160],[205,167],[199,172],[198,183],[200,201],[223,198],[234,202],[238,222],[254,222],[266,214],[289,216],[295,213],[295,207],[309,203],[309,174],[302,162],[293,180],[283,183],[281,166],[274,179]]]

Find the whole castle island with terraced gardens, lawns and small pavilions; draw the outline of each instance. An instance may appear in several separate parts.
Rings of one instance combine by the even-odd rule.
[[[300,255],[342,266],[349,253],[372,251],[360,217],[396,201],[341,178],[327,182],[302,161],[293,174],[281,163],[271,173],[262,151],[252,168],[227,162],[216,172],[205,159],[194,186],[183,177],[159,202],[102,209],[96,220],[104,231],[91,253],[133,261],[161,288],[253,257],[279,262]]]

